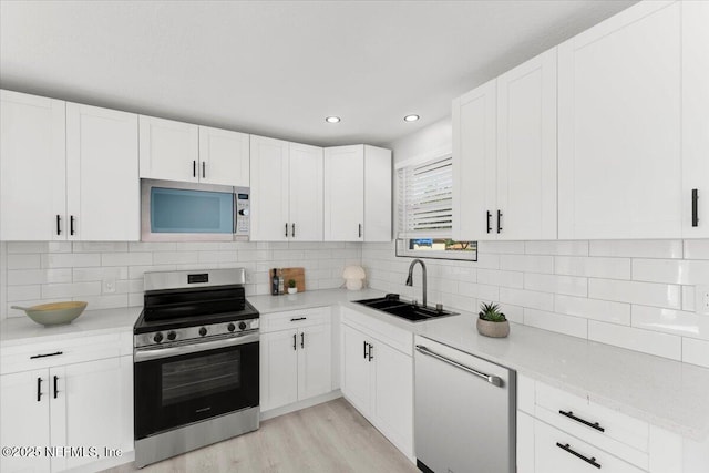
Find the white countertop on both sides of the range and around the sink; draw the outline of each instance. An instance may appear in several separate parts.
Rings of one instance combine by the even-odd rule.
[[[482,337],[475,329],[476,315],[465,311],[414,323],[350,302],[381,296],[382,291],[372,289],[328,289],[249,296],[248,300],[261,313],[342,304],[690,439],[709,436],[709,369],[516,323],[511,323],[508,338]],[[29,318],[11,318],[0,322],[0,343],[130,331],[141,310],[90,310],[68,326],[51,328]]]

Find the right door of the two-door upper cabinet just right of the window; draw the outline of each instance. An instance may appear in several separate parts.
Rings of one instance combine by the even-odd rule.
[[[497,78],[496,209],[497,239],[556,238],[556,48]]]

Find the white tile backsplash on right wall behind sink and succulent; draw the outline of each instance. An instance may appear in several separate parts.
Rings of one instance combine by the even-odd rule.
[[[369,286],[421,299],[404,281],[411,258],[363,244]],[[477,261],[427,259],[429,301],[476,312],[499,302],[510,320],[709,368],[709,239],[481,241]]]

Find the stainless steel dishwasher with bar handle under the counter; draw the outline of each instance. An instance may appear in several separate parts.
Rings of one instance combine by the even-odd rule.
[[[420,336],[415,350],[419,470],[513,473],[515,372]]]

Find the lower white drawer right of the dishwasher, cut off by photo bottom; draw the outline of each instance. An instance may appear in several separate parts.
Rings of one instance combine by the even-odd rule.
[[[644,472],[597,446],[538,420],[534,421],[534,471],[542,473]]]

